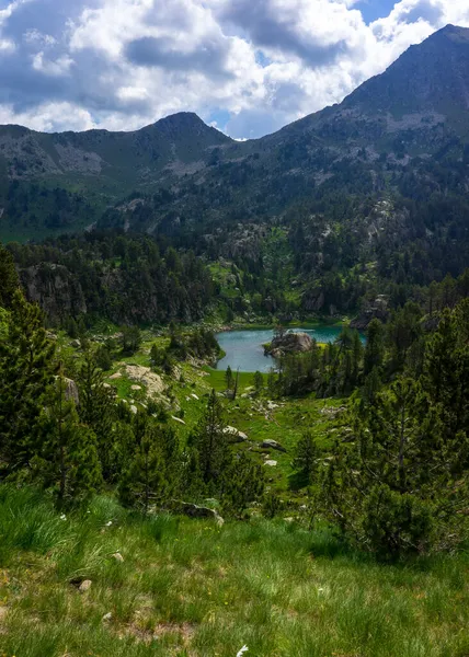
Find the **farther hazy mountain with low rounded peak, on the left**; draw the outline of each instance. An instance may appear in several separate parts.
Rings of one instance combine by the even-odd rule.
[[[193,113],[133,132],[42,134],[0,126],[0,235],[83,228],[136,188],[194,175],[232,140]],[[20,233],[21,234],[21,230]]]

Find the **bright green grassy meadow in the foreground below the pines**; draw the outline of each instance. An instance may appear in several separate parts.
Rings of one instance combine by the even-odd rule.
[[[284,520],[142,520],[107,497],[61,518],[0,487],[8,657],[464,657],[468,574],[465,555],[377,564]]]

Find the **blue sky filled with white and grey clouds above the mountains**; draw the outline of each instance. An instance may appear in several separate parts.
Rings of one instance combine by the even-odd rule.
[[[0,0],[0,124],[261,137],[382,72],[469,0]]]

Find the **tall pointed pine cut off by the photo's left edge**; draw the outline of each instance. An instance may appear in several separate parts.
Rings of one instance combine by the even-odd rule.
[[[7,472],[27,465],[46,393],[54,381],[55,345],[43,314],[13,293],[8,337],[0,343],[0,456]]]

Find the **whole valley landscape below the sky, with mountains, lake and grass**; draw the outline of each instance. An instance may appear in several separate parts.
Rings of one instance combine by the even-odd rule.
[[[0,657],[467,657],[468,77],[0,126]]]

